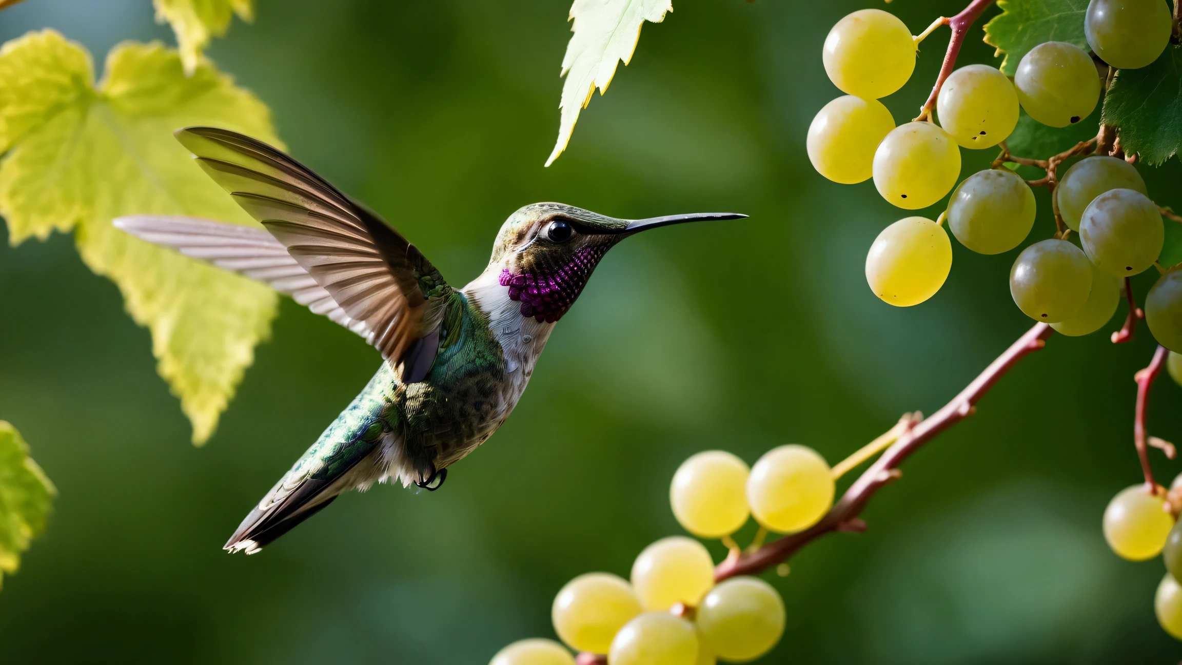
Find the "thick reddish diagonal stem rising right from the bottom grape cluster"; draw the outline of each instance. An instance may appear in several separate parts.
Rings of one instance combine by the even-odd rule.
[[[1007,373],[1019,360],[1041,349],[1053,330],[1046,323],[1037,323],[998,356],[989,367],[973,380],[959,395],[937,411],[931,418],[921,420],[918,414],[907,414],[900,420],[904,424],[898,439],[883,452],[873,464],[859,476],[842,498],[833,504],[820,522],[804,531],[790,534],[747,554],[732,553],[714,569],[714,581],[734,577],[735,575],[754,575],[774,568],[785,562],[800,548],[833,531],[862,531],[866,524],[858,515],[866,506],[870,497],[883,485],[902,476],[898,465],[920,450],[937,434],[960,422],[975,411],[978,401]],[[1160,369],[1160,368],[1158,368]],[[895,430],[892,428],[894,433]],[[580,661],[583,663],[583,661]],[[596,663],[587,660],[587,664]]]

